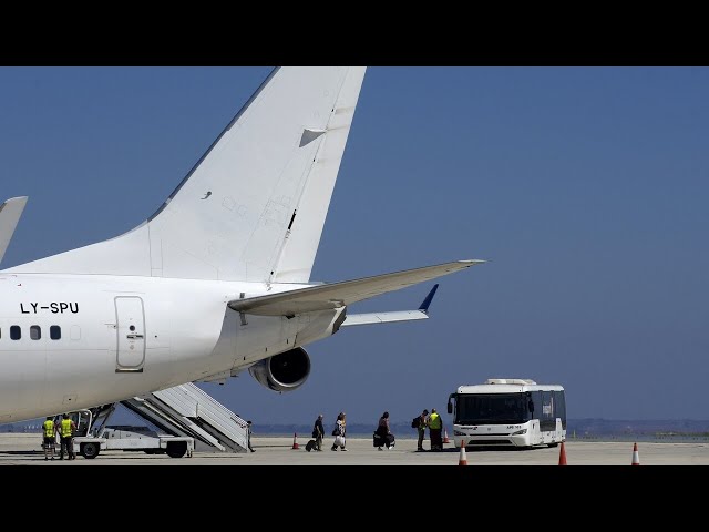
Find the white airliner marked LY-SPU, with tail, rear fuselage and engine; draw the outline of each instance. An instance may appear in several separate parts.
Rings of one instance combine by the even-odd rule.
[[[278,68],[148,219],[0,270],[0,423],[248,369],[276,391],[341,327],[427,318],[348,306],[483,260],[333,284],[310,273],[364,68]],[[0,259],[27,197],[0,206]]]

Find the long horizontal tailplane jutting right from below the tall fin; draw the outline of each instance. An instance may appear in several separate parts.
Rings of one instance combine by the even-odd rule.
[[[401,288],[435,279],[436,277],[452,274],[484,262],[485,260],[455,260],[453,263],[395,272],[374,277],[309,286],[307,288],[269,294],[267,296],[234,299],[228,303],[228,306],[238,313],[258,316],[295,316],[298,314],[315,313],[318,310],[340,308],[363,299],[369,299],[370,297],[387,294],[388,291],[400,290]],[[356,324],[350,323],[350,325]]]

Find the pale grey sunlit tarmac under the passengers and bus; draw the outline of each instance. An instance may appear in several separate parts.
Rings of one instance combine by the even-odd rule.
[[[322,451],[306,451],[307,439],[253,437],[256,452],[195,451],[192,457],[169,458],[144,452],[102,451],[88,460],[44,461],[40,433],[0,433],[0,466],[558,466],[562,446],[531,450],[471,449],[464,456],[452,443],[440,452],[417,452],[417,440],[398,438],[390,450],[379,451],[371,438],[348,438],[347,451],[331,451],[331,438]],[[634,442],[578,441],[564,444],[566,466],[631,466]],[[638,442],[640,466],[709,466],[706,442]]]

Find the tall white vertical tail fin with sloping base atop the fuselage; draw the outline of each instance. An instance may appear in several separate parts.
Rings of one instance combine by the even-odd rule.
[[[274,70],[147,221],[7,272],[307,283],[364,70]]]

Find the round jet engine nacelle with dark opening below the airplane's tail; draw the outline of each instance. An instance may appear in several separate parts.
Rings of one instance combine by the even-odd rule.
[[[248,368],[258,383],[274,391],[300,388],[310,375],[310,357],[302,347],[259,360]]]

